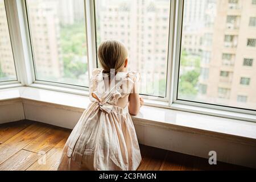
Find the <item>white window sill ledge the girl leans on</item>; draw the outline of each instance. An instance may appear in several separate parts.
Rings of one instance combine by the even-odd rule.
[[[84,111],[90,103],[87,96],[28,86],[0,90],[0,101],[15,98],[20,98],[26,102],[43,102],[46,105],[79,112]],[[255,145],[256,123],[254,122],[154,106],[143,106],[140,113],[132,118],[137,125],[162,127],[217,138],[225,137],[236,142],[240,141]]]

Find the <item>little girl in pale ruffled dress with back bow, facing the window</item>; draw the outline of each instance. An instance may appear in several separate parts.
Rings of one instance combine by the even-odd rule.
[[[139,75],[127,72],[127,49],[102,42],[90,80],[90,101],[65,144],[58,170],[136,170],[141,152],[130,114],[143,105]],[[130,113],[130,114],[129,114]]]

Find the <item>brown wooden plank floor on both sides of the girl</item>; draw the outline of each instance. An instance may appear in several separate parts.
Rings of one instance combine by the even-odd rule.
[[[1,170],[56,170],[71,130],[33,121],[0,125]],[[138,170],[234,170],[248,169],[141,145]],[[44,161],[46,163],[44,164]]]

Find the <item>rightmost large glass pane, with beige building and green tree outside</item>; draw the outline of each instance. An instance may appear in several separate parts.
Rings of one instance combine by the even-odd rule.
[[[251,16],[251,1],[184,1],[178,100],[256,109]]]

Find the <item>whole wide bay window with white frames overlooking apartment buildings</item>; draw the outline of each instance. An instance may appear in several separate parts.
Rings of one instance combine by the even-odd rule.
[[[141,73],[140,93],[153,96],[146,97],[155,100],[146,100],[152,106],[187,107],[197,113],[202,113],[201,107],[245,114],[256,111],[256,17],[251,13],[255,0],[250,1],[253,6],[242,0],[22,2],[0,0],[0,85],[20,80],[21,84],[55,85],[65,92],[71,89],[63,87],[85,89],[89,86],[88,72],[100,67],[98,45],[117,39],[129,51],[130,71]],[[89,16],[85,16],[85,9]],[[24,19],[19,16],[23,10]],[[18,32],[15,27],[20,22],[25,26]],[[17,51],[26,43],[16,41],[20,38],[27,39],[31,47]],[[24,57],[32,58],[32,67],[30,59]],[[25,71],[16,67],[21,73],[19,79],[15,63],[26,67]],[[244,119],[251,121],[246,115]]]

